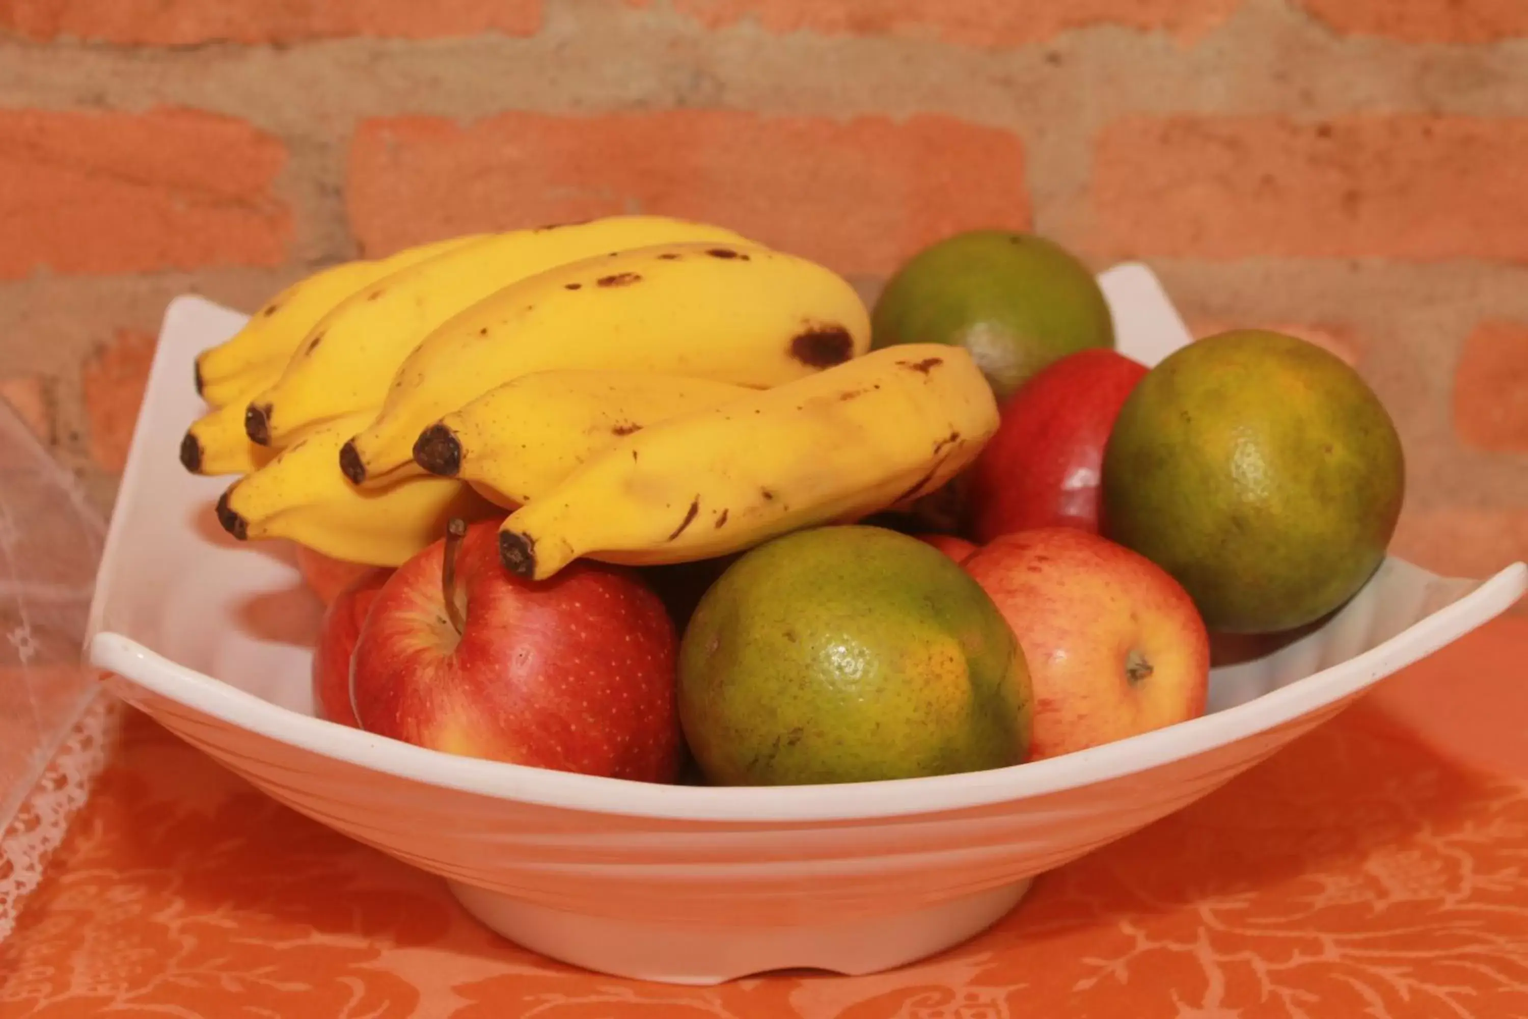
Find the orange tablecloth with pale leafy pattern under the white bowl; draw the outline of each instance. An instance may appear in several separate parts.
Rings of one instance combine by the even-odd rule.
[[[0,946],[0,1019],[1523,1017],[1525,657],[1491,623],[938,958],[718,988],[523,952],[134,715]]]

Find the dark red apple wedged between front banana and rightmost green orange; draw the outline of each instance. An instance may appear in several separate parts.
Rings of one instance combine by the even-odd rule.
[[[986,544],[1051,526],[1097,533],[1103,446],[1144,374],[1146,365],[1114,350],[1080,350],[1019,387],[970,467],[972,536]]]

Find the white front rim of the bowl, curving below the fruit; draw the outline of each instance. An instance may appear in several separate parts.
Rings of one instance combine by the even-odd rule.
[[[451,755],[261,700],[112,631],[89,658],[127,681],[277,742],[351,765],[538,807],[695,822],[853,822],[990,807],[1076,790],[1198,756],[1343,701],[1510,608],[1528,590],[1514,562],[1473,591],[1346,662],[1232,707],[1086,750],[1001,768],[824,785],[706,787],[611,779]]]

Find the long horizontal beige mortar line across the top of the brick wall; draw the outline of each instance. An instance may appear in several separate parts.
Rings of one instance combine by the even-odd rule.
[[[1054,107],[1057,115],[1067,112],[1067,96],[1077,89],[1097,96],[1103,118],[1290,110],[1313,118],[1357,110],[1528,113],[1528,40],[1420,47],[1334,38],[1284,0],[1247,0],[1225,24],[1187,49],[1118,27],[1076,29],[1045,43],[986,50],[938,40],[770,35],[746,24],[704,32],[678,15],[672,23],[610,21],[579,34],[553,24],[530,38],[481,35],[406,44],[351,38],[163,50],[11,41],[0,44],[0,84],[8,105],[139,110],[189,102],[278,133],[313,119],[338,127],[396,113],[471,121],[503,108],[578,115],[674,105],[819,116],[935,112],[1001,127],[1024,119],[1025,99],[1002,95],[1001,82],[1015,76],[1028,78],[1024,84],[1044,93],[1041,107]],[[1280,47],[1302,50],[1299,79],[1287,73],[1288,55]],[[1126,50],[1137,67],[1128,84],[1118,73]],[[675,53],[680,60],[669,63]],[[58,60],[61,55],[70,60]],[[1062,67],[1047,64],[1047,57],[1059,57]],[[1452,60],[1496,64],[1502,79],[1475,89],[1467,99],[1432,95],[1427,82],[1447,75]],[[1346,73],[1358,61],[1366,70],[1363,81]],[[747,79],[755,72],[782,64],[796,69],[799,79],[758,75],[769,86],[750,92]],[[148,73],[134,79],[133,72],[145,67]],[[623,73],[611,73],[613,67]],[[804,67],[816,70],[799,73]],[[490,78],[484,78],[487,72]],[[718,93],[694,102],[688,95],[694,75],[688,72],[717,82]],[[1227,87],[1206,93],[1199,82],[1219,73],[1227,75]],[[101,89],[101,78],[112,89]],[[307,84],[325,78],[345,87]],[[556,87],[545,87],[549,78]],[[483,79],[501,87],[484,95],[489,90],[474,87]],[[1525,87],[1514,89],[1514,79]],[[358,81],[370,84],[356,89]],[[293,93],[295,104],[289,101]],[[293,108],[303,113],[290,113]]]

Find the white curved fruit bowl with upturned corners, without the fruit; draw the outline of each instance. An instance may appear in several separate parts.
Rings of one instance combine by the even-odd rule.
[[[1102,277],[1125,353],[1189,333],[1141,266]],[[313,717],[318,602],[280,547],[212,519],[177,463],[193,356],[241,315],[167,316],[99,571],[89,655],[113,689],[275,799],[445,877],[486,924],[608,973],[717,982],[865,973],[955,944],[1033,875],[1204,796],[1381,677],[1502,613],[1516,564],[1444,579],[1389,559],[1320,629],[1213,674],[1209,713],[1082,753],[932,779],[643,785],[451,756]]]

